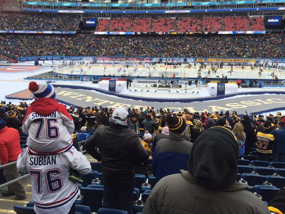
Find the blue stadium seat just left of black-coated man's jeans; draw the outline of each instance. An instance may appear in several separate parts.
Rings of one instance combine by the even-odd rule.
[[[103,189],[82,187],[80,191],[84,195],[82,205],[91,207],[91,212],[98,212],[102,208]]]

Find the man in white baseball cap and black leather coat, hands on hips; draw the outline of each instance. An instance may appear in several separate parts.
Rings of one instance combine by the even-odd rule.
[[[126,109],[116,108],[110,117],[110,126],[97,130],[85,142],[83,149],[93,158],[102,161],[104,208],[122,209],[132,214],[134,165],[147,161],[149,154],[136,132],[129,129],[127,117]]]

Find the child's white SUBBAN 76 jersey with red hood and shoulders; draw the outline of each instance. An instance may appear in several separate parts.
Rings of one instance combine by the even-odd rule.
[[[65,106],[51,98],[40,98],[27,109],[22,131],[28,134],[27,145],[35,154],[55,154],[72,147],[72,117]]]

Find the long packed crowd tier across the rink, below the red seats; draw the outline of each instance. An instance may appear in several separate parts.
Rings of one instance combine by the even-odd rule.
[[[167,39],[166,39],[167,38]],[[12,56],[130,56],[281,58],[284,34],[246,36],[0,36],[0,51]],[[28,49],[29,51],[25,50]]]

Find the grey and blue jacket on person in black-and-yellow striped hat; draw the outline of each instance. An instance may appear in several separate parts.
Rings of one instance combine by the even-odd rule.
[[[192,145],[184,140],[184,135],[176,133],[169,133],[169,139],[157,142],[151,164],[156,182],[167,175],[179,173],[180,169],[187,170]]]

